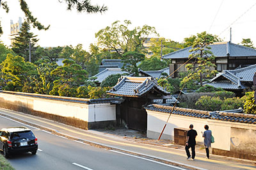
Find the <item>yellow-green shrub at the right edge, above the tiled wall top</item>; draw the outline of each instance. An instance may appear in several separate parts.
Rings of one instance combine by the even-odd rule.
[[[247,114],[256,114],[256,104],[254,92],[246,92],[246,101],[244,103],[244,112]]]

